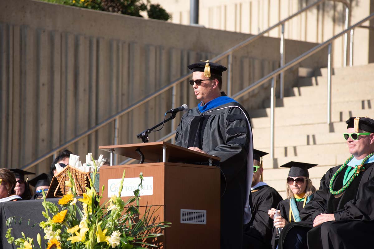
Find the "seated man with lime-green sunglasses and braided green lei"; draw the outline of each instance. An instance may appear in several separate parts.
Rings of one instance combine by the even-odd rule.
[[[330,168],[313,201],[288,224],[279,248],[366,248],[374,227],[374,120],[351,117],[344,138],[352,156]],[[281,243],[282,240],[282,243]]]

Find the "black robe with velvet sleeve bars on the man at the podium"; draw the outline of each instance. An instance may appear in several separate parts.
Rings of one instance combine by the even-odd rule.
[[[204,113],[197,107],[190,109],[177,127],[175,144],[198,147],[221,158],[221,249],[242,248],[243,224],[251,219],[249,195],[253,176],[248,113],[236,102]],[[248,221],[244,222],[245,218]]]

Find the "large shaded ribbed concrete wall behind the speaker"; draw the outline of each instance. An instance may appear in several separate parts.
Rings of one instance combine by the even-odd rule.
[[[1,167],[30,163],[186,74],[188,64],[211,59],[248,37],[40,1],[0,1]],[[286,61],[313,46],[287,40]],[[278,38],[264,37],[234,53],[233,94],[278,67],[278,48]],[[326,60],[322,50],[301,66],[322,67]],[[288,86],[296,69],[286,75]],[[268,85],[261,89],[243,97],[247,108],[263,106],[270,91]],[[187,81],[176,94],[175,106],[197,104]],[[159,123],[171,105],[169,90],[123,116],[119,144],[140,142],[135,135]],[[175,125],[180,116],[176,120]],[[99,145],[114,144],[113,128],[108,124],[69,149],[81,158],[87,152],[97,157],[103,153]],[[166,124],[151,141],[171,129]],[[31,170],[44,172],[50,162]]]

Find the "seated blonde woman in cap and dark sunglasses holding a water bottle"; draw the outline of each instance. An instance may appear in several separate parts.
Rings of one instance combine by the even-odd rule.
[[[309,179],[308,171],[309,168],[316,165],[291,161],[281,166],[290,168],[286,179],[287,199],[279,202],[277,209],[272,208],[268,211],[270,218],[273,218],[275,211],[280,210],[281,217],[274,219],[276,228],[283,228],[288,223],[301,221],[299,212],[313,199],[313,194],[316,192],[312,180]],[[272,247],[276,248],[277,245],[278,236],[276,236],[274,229]]]

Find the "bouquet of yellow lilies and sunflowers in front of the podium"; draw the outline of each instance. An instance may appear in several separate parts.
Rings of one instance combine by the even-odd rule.
[[[94,162],[94,160],[92,160]],[[95,163],[94,163],[95,164]],[[120,198],[123,188],[122,181],[118,196],[112,196],[106,203],[99,205],[102,195],[99,196],[93,184],[95,183],[96,164],[91,188],[86,188],[83,198],[77,198],[74,179],[65,182],[71,187],[71,192],[66,193],[58,201],[60,208],[52,202],[46,201],[43,193],[43,216],[46,221],[39,223],[44,232],[46,245],[42,245],[41,235],[37,235],[37,244],[34,239],[26,237],[22,233],[21,238],[14,239],[11,235],[12,228],[7,230],[6,238],[8,243],[14,243],[18,249],[101,249],[101,248],[121,248],[121,249],[139,249],[143,246],[153,246],[147,243],[148,238],[161,236],[161,228],[169,227],[168,222],[152,223],[152,214],[150,208],[140,215],[139,199],[140,189],[142,188],[143,175],[140,173],[140,183],[138,189],[134,190],[134,196],[126,202]],[[104,186],[102,187],[104,192]],[[59,210],[60,209],[60,210]],[[15,217],[7,220],[9,226]],[[39,247],[38,247],[39,246]]]

